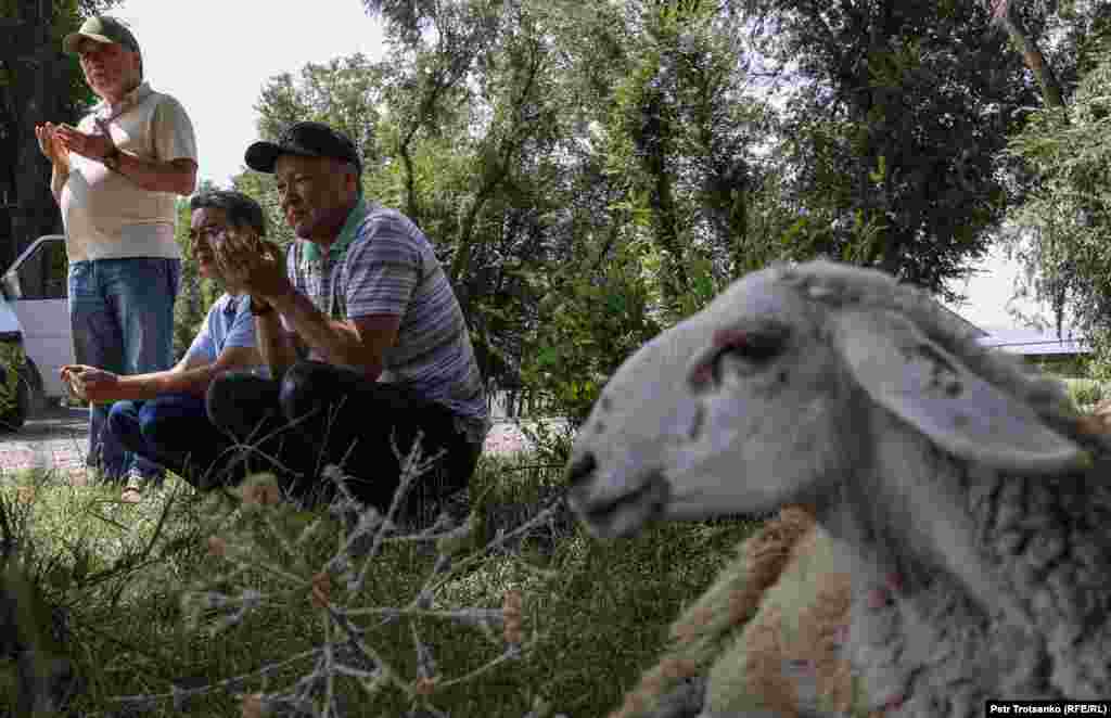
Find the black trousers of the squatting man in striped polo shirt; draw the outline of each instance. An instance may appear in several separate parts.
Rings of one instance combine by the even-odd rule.
[[[346,486],[356,498],[384,512],[402,471],[391,438],[403,460],[422,432],[423,457],[443,455],[410,488],[404,508],[411,516],[464,488],[482,449],[467,440],[447,407],[320,361],[299,361],[280,381],[223,375],[206,401],[212,423],[240,442],[241,470],[274,472],[307,503],[330,500],[331,481],[321,470],[334,463],[351,477]]]

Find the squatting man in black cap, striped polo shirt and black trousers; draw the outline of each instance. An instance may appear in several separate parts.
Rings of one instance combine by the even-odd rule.
[[[284,267],[276,247],[223,252],[274,380],[221,377],[208,392],[212,421],[257,443],[244,457],[298,499],[328,496],[321,469],[334,463],[358,499],[387,509],[401,475],[393,447],[403,458],[418,432],[426,458],[442,453],[416,498],[466,487],[489,427],[486,392],[431,243],[363,198],[358,151],[327,124],[297,122],[244,159],[274,174],[298,239]]]

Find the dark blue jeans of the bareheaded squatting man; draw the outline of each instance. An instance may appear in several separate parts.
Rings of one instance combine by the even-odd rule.
[[[107,426],[124,449],[198,488],[239,478],[227,471],[232,442],[209,421],[203,396],[164,393],[148,401],[117,401]]]

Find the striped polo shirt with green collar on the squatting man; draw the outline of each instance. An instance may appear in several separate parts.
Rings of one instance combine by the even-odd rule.
[[[328,252],[299,239],[286,261],[294,289],[332,319],[400,317],[378,380],[404,382],[448,407],[481,443],[489,412],[467,322],[431,243],[409,218],[360,199]]]

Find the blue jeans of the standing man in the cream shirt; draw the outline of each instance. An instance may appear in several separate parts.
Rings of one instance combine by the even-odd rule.
[[[77,363],[121,375],[162,371],[173,365],[173,302],[181,260],[154,257],[96,259],[69,266],[69,310]],[[104,427],[109,405],[89,409],[86,462],[109,480],[133,468],[149,479],[162,469],[128,453]]]

